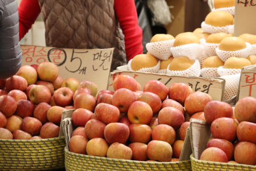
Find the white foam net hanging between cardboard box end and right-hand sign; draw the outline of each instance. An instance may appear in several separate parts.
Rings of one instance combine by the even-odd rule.
[[[230,100],[236,95],[239,86],[240,75],[241,74],[235,74],[220,77],[226,79],[224,101]]]

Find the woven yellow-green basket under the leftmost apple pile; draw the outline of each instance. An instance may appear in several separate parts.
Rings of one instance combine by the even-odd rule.
[[[65,167],[65,137],[0,140],[0,170],[54,170]]]

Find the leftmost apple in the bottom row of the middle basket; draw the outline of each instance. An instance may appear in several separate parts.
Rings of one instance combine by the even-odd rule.
[[[78,154],[86,154],[86,145],[88,141],[89,140],[86,139],[86,137],[81,135],[71,137],[68,143],[69,151]]]

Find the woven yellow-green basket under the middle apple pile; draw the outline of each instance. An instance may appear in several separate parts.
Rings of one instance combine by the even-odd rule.
[[[66,170],[191,170],[190,160],[179,162],[118,160],[73,153],[68,151],[67,147],[65,167]]]

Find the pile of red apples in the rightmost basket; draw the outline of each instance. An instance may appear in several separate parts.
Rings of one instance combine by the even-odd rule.
[[[205,106],[212,137],[201,160],[256,165],[256,99],[245,97],[233,109],[223,102]],[[234,161],[235,160],[235,161]]]

